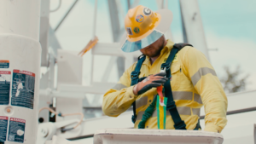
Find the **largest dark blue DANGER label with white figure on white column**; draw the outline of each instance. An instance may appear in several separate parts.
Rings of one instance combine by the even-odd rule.
[[[33,109],[35,73],[14,70],[11,105]]]

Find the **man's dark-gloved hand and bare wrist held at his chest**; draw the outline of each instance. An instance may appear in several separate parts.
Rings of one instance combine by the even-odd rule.
[[[133,88],[134,95],[141,95],[149,89],[159,87],[162,84],[165,84],[168,78],[165,78],[166,72],[160,72],[155,75],[148,76],[142,82],[138,83]]]

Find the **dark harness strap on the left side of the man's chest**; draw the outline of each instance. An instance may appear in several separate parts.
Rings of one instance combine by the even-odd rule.
[[[138,57],[137,66],[135,67],[134,71],[131,72],[131,86],[135,85],[139,82],[138,76],[141,73],[140,71],[141,71],[141,67],[143,66],[144,60],[146,60],[145,55],[140,55]],[[136,101],[134,101],[132,103],[132,110],[133,110],[133,115],[131,116],[131,121],[132,121],[133,124],[135,124],[136,118],[137,118],[137,115],[136,115]]]

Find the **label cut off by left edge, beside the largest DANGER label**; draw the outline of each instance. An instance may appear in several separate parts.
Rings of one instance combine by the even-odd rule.
[[[0,105],[9,105],[11,72],[0,71]]]

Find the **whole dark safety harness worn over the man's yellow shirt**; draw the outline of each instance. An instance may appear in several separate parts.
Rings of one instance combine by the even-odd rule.
[[[172,78],[171,64],[172,64],[172,60],[174,59],[177,52],[180,49],[183,49],[183,47],[185,47],[185,46],[192,46],[192,45],[189,44],[189,43],[176,43],[176,44],[174,44],[173,48],[171,50],[171,53],[168,56],[166,62],[161,65],[161,70],[166,69],[166,78],[168,78],[168,81],[166,81],[166,83],[164,84],[165,95],[168,98],[167,99],[166,110],[169,111],[171,116],[172,116],[175,130],[186,130],[186,124],[180,118],[180,115],[177,112],[177,107],[175,105],[175,101],[173,100],[172,87],[171,87],[171,83],[170,83],[170,79]],[[143,81],[143,79],[146,78],[146,77],[138,78],[138,76],[140,74],[140,69],[141,69],[141,67],[143,65],[143,61],[145,59],[146,59],[145,55],[141,55],[141,56],[138,57],[137,66],[135,67],[135,70],[133,72],[131,72],[131,86]],[[150,106],[144,112],[143,119],[140,122],[140,124],[138,125],[139,129],[144,129],[146,121],[148,120],[148,118],[150,118],[152,116],[152,114],[154,112],[156,97],[157,96],[155,96],[154,101],[150,104]],[[133,115],[131,117],[131,121],[133,123],[135,123],[136,119],[137,119],[136,101],[134,101],[132,103],[132,106],[133,106]],[[198,120],[198,123],[196,124],[195,130],[199,130],[199,129],[201,129],[201,126],[200,126],[200,123],[199,123],[199,120]]]

